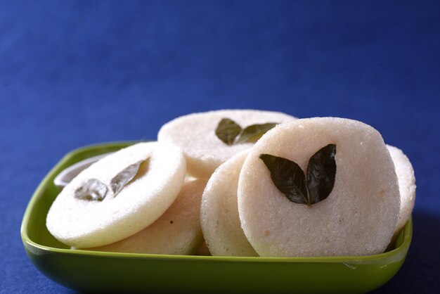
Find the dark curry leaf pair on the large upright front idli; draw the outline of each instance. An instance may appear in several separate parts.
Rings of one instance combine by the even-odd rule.
[[[336,145],[329,144],[309,160],[307,176],[296,162],[269,154],[259,158],[271,173],[273,184],[290,201],[308,206],[327,198],[335,185]]]

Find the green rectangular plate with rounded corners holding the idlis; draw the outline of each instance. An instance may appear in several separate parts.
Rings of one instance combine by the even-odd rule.
[[[21,236],[35,267],[63,286],[90,292],[366,293],[399,271],[411,241],[410,220],[386,253],[347,257],[212,257],[70,250],[46,229],[58,195],[53,179],[66,167],[133,142],[79,148],[39,184],[22,220]]]

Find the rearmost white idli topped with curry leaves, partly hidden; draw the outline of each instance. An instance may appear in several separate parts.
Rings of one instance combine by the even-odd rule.
[[[209,177],[228,158],[251,148],[274,124],[290,120],[295,117],[262,110],[193,113],[164,124],[157,141],[181,147],[188,172],[195,177]]]

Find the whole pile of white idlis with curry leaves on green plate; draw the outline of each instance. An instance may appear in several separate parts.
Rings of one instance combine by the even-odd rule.
[[[72,248],[312,257],[383,253],[408,222],[413,167],[376,129],[261,110],[177,117],[98,160],[46,226]]]

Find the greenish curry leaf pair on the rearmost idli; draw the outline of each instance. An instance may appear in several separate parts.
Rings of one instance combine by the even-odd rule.
[[[266,134],[269,129],[275,126],[275,122],[268,122],[266,124],[252,124],[242,129],[240,124],[228,118],[223,118],[217,125],[215,134],[228,146],[239,143],[255,143],[261,136]]]

